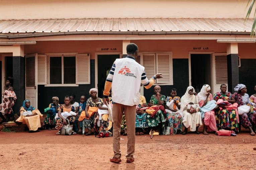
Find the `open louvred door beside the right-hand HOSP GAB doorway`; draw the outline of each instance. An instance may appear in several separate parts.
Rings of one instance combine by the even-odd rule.
[[[212,55],[212,93],[220,92],[222,84],[228,87],[228,64],[226,53],[214,53]],[[228,89],[227,89],[228,91]]]

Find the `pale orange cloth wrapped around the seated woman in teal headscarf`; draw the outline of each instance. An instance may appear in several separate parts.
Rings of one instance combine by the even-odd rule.
[[[23,116],[23,112],[27,112],[23,107],[20,108],[20,117],[16,120],[16,122],[22,122],[22,124],[26,124],[29,130],[36,131],[39,127],[41,127],[40,117],[42,114],[38,109],[32,110],[33,114],[37,114],[34,116],[25,117]]]

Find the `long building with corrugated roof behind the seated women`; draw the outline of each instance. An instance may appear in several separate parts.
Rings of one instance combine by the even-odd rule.
[[[1,1],[1,89],[14,78],[15,111],[27,98],[42,111],[58,96],[99,96],[112,63],[139,47],[137,62],[156,84],[182,96],[209,84],[212,93],[237,83],[254,93],[256,38],[246,2],[224,1]],[[65,12],[63,12],[65,11]],[[234,12],[236,11],[236,12]],[[149,101],[153,89],[141,88]]]

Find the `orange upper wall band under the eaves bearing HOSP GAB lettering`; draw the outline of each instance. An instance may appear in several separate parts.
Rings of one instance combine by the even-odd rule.
[[[172,51],[173,58],[188,58],[188,52],[226,53],[227,50],[227,43],[217,43],[216,40],[132,40],[131,42],[138,45],[140,52]],[[201,47],[201,50],[195,50],[194,47]],[[203,47],[208,49],[203,50]],[[109,48],[109,50],[102,51],[101,48]],[[95,52],[122,52],[122,40],[37,41],[34,45],[25,45],[24,51],[25,54],[90,53],[91,59],[95,59]],[[239,43],[238,52],[241,58],[256,59],[256,43]]]

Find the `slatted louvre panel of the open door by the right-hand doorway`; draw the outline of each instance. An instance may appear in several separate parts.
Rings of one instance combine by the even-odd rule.
[[[216,84],[228,84],[227,56],[215,56]]]

